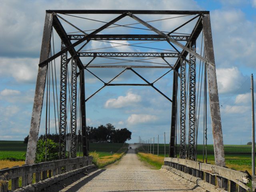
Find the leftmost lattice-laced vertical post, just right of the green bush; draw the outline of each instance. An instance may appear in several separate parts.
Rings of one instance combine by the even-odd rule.
[[[61,42],[61,49],[65,48]],[[59,156],[61,159],[66,157],[66,126],[67,126],[67,56],[64,52],[60,58],[60,127],[59,127]]]

